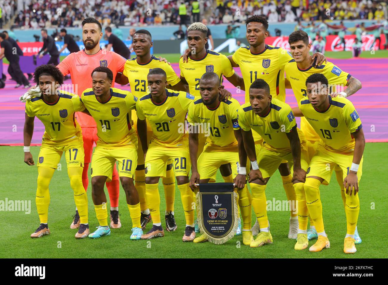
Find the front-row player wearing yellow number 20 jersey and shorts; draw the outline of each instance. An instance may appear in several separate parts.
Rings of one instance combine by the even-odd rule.
[[[194,96],[183,91],[166,89],[167,74],[157,67],[147,76],[150,93],[139,98],[136,103],[137,132],[145,156],[145,195],[152,217],[152,228],[142,239],[163,237],[165,235],[160,222],[159,178],[166,176],[166,164],[174,161],[175,177],[185,212],[186,228],[183,241],[195,238],[194,197],[189,187],[190,157],[185,133],[185,116]],[[152,127],[152,137],[147,144],[147,121]]]

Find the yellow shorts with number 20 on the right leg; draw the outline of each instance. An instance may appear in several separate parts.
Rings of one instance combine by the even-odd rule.
[[[150,145],[145,155],[145,177],[166,177],[166,166],[173,163],[175,176],[189,176],[188,148],[161,148]]]

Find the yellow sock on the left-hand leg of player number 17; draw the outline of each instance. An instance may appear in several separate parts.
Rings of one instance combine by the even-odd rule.
[[[54,171],[54,168],[38,167],[38,187],[36,188],[35,203],[40,223],[47,223],[49,216],[49,184]]]

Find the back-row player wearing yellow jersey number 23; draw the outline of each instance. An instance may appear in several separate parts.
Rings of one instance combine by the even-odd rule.
[[[145,29],[140,29],[133,34],[132,47],[136,54],[124,65],[123,75],[128,78],[131,86],[131,93],[140,98],[148,92],[147,74],[153,68],[159,67],[167,74],[168,88],[176,91],[189,92],[189,86],[183,83],[173,68],[166,62],[160,62],[157,57],[151,55],[152,37],[151,33]],[[137,116],[135,110],[132,112],[133,128],[137,128]],[[148,125],[147,136],[152,136],[152,128]],[[174,200],[175,200],[175,176],[172,169],[172,161],[167,166],[166,177],[162,179],[165,198],[166,198],[166,230],[175,231],[177,224],[174,217]],[[141,225],[142,229],[149,221],[151,215],[145,199],[145,173],[144,173],[144,154],[141,147],[137,149],[137,168],[135,170],[135,187],[139,192],[140,209],[142,211]]]

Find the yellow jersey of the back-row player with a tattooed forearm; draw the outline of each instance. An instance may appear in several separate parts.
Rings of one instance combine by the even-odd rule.
[[[285,67],[286,78],[291,83],[292,91],[295,95],[296,102],[300,102],[302,98],[307,99],[307,88],[306,88],[306,79],[308,76],[314,73],[322,73],[329,81],[330,85],[345,86],[348,83],[351,75],[345,71],[342,71],[338,66],[335,66],[331,62],[327,64],[322,64],[321,66],[315,66],[316,59],[312,66],[307,69],[300,69],[294,59],[290,60]],[[334,90],[333,90],[334,91]],[[305,117],[300,119],[300,129],[305,134],[307,140],[318,141],[320,139],[319,135],[314,131],[314,128],[310,126]]]

